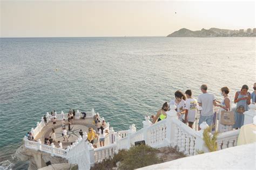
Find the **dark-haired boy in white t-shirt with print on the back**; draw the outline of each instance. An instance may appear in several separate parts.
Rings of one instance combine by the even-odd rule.
[[[194,121],[196,121],[198,103],[196,98],[192,98],[192,91],[187,90],[186,94],[186,113],[185,113],[185,122],[188,122],[188,126],[192,128]]]

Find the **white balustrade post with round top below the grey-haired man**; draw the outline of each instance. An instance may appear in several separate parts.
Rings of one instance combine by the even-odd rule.
[[[195,141],[195,145],[194,145],[194,149],[195,149],[196,152],[197,151],[203,151],[204,153],[209,152],[208,148],[205,146],[205,141],[203,140],[204,130],[208,127],[209,126],[207,125],[206,122],[203,122],[203,123],[200,124],[201,130],[197,131],[198,135],[196,137],[196,141]]]

